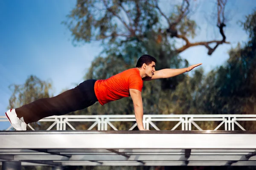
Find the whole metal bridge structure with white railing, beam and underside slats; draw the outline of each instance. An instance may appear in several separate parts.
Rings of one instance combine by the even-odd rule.
[[[0,116],[0,123],[8,122]],[[256,115],[64,115],[0,131],[3,170],[21,166],[255,166]],[[127,129],[120,124],[129,122]],[[159,123],[161,123],[161,127]],[[164,127],[172,122],[172,127]],[[212,129],[204,129],[205,123]],[[78,126],[81,125],[81,126]],[[82,126],[86,125],[86,126]],[[170,125],[170,124],[168,124]],[[86,127],[87,129],[79,129]]]

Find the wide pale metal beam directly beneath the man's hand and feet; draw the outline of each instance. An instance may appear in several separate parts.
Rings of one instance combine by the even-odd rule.
[[[256,133],[16,131],[0,141],[0,149],[255,149]]]

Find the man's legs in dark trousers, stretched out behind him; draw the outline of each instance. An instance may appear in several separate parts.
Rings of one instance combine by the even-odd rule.
[[[76,88],[65,91],[58,96],[38,99],[20,108],[16,108],[17,117],[23,118],[24,122],[29,124],[48,116],[64,115],[87,108],[97,101],[94,93],[95,81],[84,81]]]

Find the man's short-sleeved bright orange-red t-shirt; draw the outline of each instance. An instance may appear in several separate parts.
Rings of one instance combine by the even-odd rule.
[[[142,91],[143,80],[137,68],[125,70],[105,80],[97,80],[94,85],[96,97],[101,105],[130,96],[130,88]]]

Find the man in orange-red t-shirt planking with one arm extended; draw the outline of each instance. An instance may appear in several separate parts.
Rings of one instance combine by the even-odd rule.
[[[174,77],[202,64],[188,68],[166,68],[155,71],[156,62],[154,57],[143,55],[138,59],[136,68],[125,70],[105,80],[86,80],[76,88],[58,96],[38,99],[20,108],[11,109],[5,113],[6,117],[16,130],[26,130],[27,124],[48,116],[64,115],[87,108],[95,102],[105,105],[108,102],[131,96],[137,126],[139,130],[145,130],[141,96],[143,81]]]

